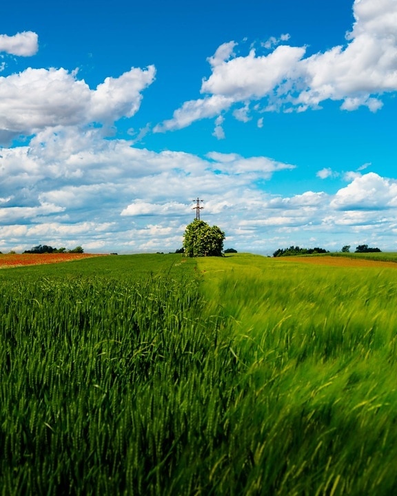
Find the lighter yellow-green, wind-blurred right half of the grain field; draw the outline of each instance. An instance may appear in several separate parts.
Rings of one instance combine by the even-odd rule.
[[[198,267],[245,367],[240,448],[258,494],[394,493],[396,269],[247,255]]]

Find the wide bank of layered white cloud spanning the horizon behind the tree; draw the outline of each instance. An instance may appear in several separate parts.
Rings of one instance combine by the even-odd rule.
[[[241,250],[305,246],[308,239],[328,249],[374,239],[393,246],[397,180],[369,172],[335,194],[263,189],[263,180],[293,168],[265,156],[152,152],[103,139],[99,129],[46,129],[29,145],[0,149],[0,249],[45,242],[172,251],[181,246],[198,195],[203,219],[221,225],[227,244],[238,242]]]

